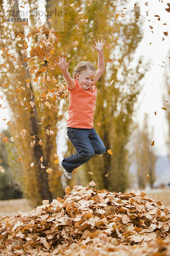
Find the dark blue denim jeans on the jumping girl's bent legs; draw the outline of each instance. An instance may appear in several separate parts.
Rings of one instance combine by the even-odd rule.
[[[94,157],[94,154],[102,154],[106,151],[104,143],[94,128],[82,129],[68,127],[67,135],[77,150],[77,153],[65,157],[61,162],[67,172],[73,172],[75,168]]]

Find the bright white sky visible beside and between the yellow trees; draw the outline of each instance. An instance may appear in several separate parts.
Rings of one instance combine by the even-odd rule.
[[[145,5],[146,2],[148,3],[148,6]],[[139,125],[142,125],[144,113],[148,113],[149,125],[150,127],[154,127],[152,140],[155,140],[154,147],[156,153],[158,155],[167,155],[167,148],[165,145],[167,122],[165,119],[165,111],[161,109],[164,107],[162,95],[165,87],[163,80],[165,68],[160,65],[165,67],[166,63],[170,61],[168,58],[168,56],[170,56],[170,12],[168,13],[165,11],[165,8],[168,8],[167,1],[165,0],[163,0],[163,3],[161,3],[161,0],[138,0],[138,2],[137,0],[132,0],[130,1],[132,8],[134,3],[139,4],[141,15],[144,20],[142,28],[143,39],[135,55],[136,57],[143,55],[144,61],[146,63],[150,62],[150,70],[145,74],[144,79],[141,81],[143,90],[139,95],[139,100],[136,104],[136,116],[134,116],[134,121],[138,121]],[[147,11],[148,16],[146,16]],[[154,15],[159,15],[161,20],[157,20],[158,17],[154,17]],[[167,25],[163,25],[163,23],[167,23]],[[150,26],[153,26],[153,33],[151,32]],[[168,32],[169,35],[165,36],[163,32]],[[162,41],[162,37],[164,37],[164,41]],[[164,61],[165,64],[162,61]],[[1,92],[0,95],[2,95]],[[3,100],[0,100],[0,104],[2,104],[3,107],[6,105]],[[154,114],[155,111],[157,113],[156,116]],[[6,118],[7,120],[3,121],[3,118]],[[10,111],[8,109],[0,108],[0,132],[7,128],[6,123],[9,120]]]

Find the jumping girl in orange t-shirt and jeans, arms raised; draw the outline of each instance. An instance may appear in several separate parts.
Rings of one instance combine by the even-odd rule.
[[[67,119],[67,135],[76,148],[77,153],[65,157],[62,160],[63,174],[71,180],[75,168],[86,163],[94,154],[102,154],[106,151],[105,145],[93,128],[94,110],[96,104],[96,82],[105,70],[103,46],[105,44],[94,39],[96,46],[91,45],[98,52],[98,69],[96,71],[91,62],[81,61],[74,70],[71,78],[68,72],[68,63],[65,55],[60,54],[57,65],[60,67],[65,80],[68,83],[69,103]]]

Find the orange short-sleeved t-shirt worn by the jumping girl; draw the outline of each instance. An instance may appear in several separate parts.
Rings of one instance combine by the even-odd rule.
[[[97,88],[93,83],[94,91],[83,90],[76,82],[73,90],[69,90],[69,102],[67,127],[93,128],[94,110],[96,104]]]

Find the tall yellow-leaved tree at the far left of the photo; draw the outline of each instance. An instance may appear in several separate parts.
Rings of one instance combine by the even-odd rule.
[[[30,2],[34,5],[33,1]],[[8,8],[10,8],[9,5]],[[15,2],[12,8],[15,12],[11,13],[16,13],[19,10],[18,1]],[[51,201],[52,198],[62,195],[63,192],[60,180],[62,173],[59,171],[57,164],[53,166],[50,177],[45,172],[45,169],[48,169],[49,165],[51,166],[54,163],[54,154],[57,151],[55,139],[57,135],[57,111],[52,112],[50,108],[42,103],[45,102],[45,98],[41,93],[47,94],[45,91],[49,90],[48,84],[46,84],[45,90],[45,83],[42,84],[42,81],[39,80],[37,86],[33,80],[34,69],[31,70],[33,65],[28,66],[26,58],[30,34],[24,30],[25,24],[18,23],[14,26],[14,23],[12,23],[12,26],[9,26],[8,31],[6,31],[6,13],[3,2],[0,4],[0,12],[2,21],[0,26],[3,37],[1,47],[3,47],[3,58],[6,61],[6,67],[4,66],[1,69],[1,79],[3,81],[1,86],[3,91],[6,90],[6,98],[13,111],[9,129],[16,140],[17,153],[22,159],[21,176],[24,195],[30,198],[35,205],[38,205],[41,204],[42,199]],[[32,25],[34,26],[34,24]],[[30,29],[32,35],[30,45],[32,48],[37,42],[38,32],[36,29]],[[14,41],[13,38],[15,38]],[[9,48],[13,50],[13,55]],[[7,52],[10,53],[9,56],[7,56]],[[17,57],[15,57],[16,55]],[[40,60],[37,60],[36,64],[37,67],[43,68]],[[48,72],[51,73],[50,68]],[[47,74],[45,75],[47,76]],[[45,133],[47,129],[54,132],[52,137]],[[40,168],[42,156],[42,166],[45,167],[43,169]],[[31,167],[31,163],[34,166]]]

